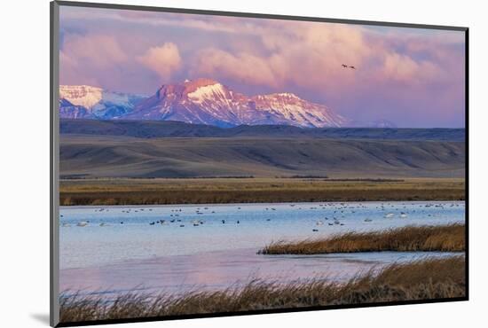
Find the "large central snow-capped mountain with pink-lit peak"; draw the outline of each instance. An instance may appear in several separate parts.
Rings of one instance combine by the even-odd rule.
[[[340,127],[346,120],[327,106],[291,93],[248,97],[209,80],[163,85],[124,118],[185,121],[230,127],[242,124],[284,124],[299,127]]]

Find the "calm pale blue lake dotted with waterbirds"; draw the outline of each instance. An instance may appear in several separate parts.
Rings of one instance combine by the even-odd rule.
[[[264,256],[256,251],[279,239],[459,223],[464,210],[464,202],[61,207],[60,285],[61,290],[120,292],[138,286],[178,293],[223,288],[250,277],[341,281],[391,262],[450,254]]]

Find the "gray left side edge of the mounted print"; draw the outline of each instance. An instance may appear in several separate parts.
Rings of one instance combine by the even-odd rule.
[[[50,3],[50,325],[59,324],[59,4]]]

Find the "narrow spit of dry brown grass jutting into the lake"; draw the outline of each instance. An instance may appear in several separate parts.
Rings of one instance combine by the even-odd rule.
[[[346,232],[323,239],[297,242],[278,241],[264,246],[258,254],[328,254],[380,251],[460,252],[465,249],[464,224],[407,226],[403,228]]]

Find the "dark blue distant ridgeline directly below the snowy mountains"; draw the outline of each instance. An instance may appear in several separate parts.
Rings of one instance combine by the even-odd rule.
[[[437,140],[464,142],[465,129],[299,128],[241,125],[219,128],[181,121],[98,121],[61,119],[61,134],[125,137],[311,137],[338,139]]]

